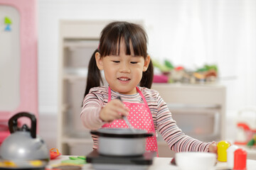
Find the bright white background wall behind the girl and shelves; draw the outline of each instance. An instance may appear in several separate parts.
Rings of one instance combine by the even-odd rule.
[[[217,63],[228,114],[255,105],[255,18],[253,0],[38,0],[39,111],[58,111],[60,19],[143,20],[151,57],[191,69]]]

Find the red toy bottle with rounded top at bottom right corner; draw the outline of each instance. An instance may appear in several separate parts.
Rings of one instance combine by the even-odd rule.
[[[236,149],[234,152],[234,170],[246,169],[247,153],[243,149]]]

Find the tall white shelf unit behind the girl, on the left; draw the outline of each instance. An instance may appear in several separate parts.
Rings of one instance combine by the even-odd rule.
[[[62,154],[92,150],[89,130],[82,127],[80,111],[85,92],[87,67],[99,45],[100,31],[108,21],[60,21],[58,149]],[[82,146],[81,146],[82,145]],[[78,149],[77,149],[78,150]]]

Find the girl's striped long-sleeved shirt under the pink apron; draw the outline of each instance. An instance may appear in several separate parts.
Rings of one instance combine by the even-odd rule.
[[[146,102],[151,111],[154,120],[154,128],[159,131],[163,139],[169,145],[169,148],[174,152],[208,152],[210,143],[201,142],[185,135],[176,125],[176,121],[171,117],[171,112],[161,98],[158,91],[139,87],[142,94],[146,98]],[[117,95],[122,97],[124,102],[143,103],[142,96],[137,94],[124,95],[117,94],[111,91],[111,98],[117,98]],[[108,101],[108,86],[100,86],[90,89],[89,94],[85,96],[82,104],[82,112],[80,118],[85,128],[97,130],[105,124],[100,119],[100,110],[107,104]],[[92,135],[93,149],[97,148],[97,136]]]

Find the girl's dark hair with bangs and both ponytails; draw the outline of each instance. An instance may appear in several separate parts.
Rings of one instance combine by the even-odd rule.
[[[102,83],[102,77],[100,69],[97,68],[95,53],[100,52],[100,57],[108,55],[119,55],[120,41],[124,40],[126,45],[126,55],[131,55],[130,41],[132,42],[132,48],[135,56],[147,57],[147,35],[142,26],[135,23],[128,23],[125,21],[116,21],[109,23],[103,28],[100,37],[100,45],[97,50],[92,54],[89,62],[87,85],[85,89],[85,96],[89,93],[92,87],[100,86]],[[118,52],[118,54],[117,54]],[[154,67],[150,60],[149,67],[146,72],[142,74],[142,80],[139,86],[151,88],[154,75]]]

